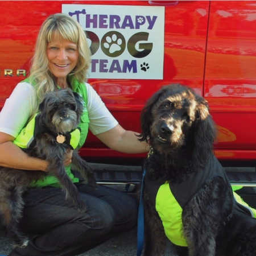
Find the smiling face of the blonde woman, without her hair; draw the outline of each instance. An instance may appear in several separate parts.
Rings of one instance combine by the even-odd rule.
[[[77,44],[53,34],[47,45],[48,67],[56,79],[65,79],[79,59]]]

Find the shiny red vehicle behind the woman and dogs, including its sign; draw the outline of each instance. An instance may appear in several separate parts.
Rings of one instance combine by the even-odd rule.
[[[140,131],[148,97],[179,82],[207,98],[224,164],[255,166],[256,1],[1,1],[0,108],[29,71],[46,17],[80,22],[92,51],[89,83],[126,129]],[[80,154],[139,163],[89,134]],[[254,171],[255,174],[255,171]]]

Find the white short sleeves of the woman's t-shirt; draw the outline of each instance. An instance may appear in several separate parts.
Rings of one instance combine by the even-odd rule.
[[[104,133],[118,125],[97,92],[85,83],[88,94],[89,129],[94,135]],[[17,137],[36,108],[36,91],[28,82],[20,82],[0,112],[0,131]]]

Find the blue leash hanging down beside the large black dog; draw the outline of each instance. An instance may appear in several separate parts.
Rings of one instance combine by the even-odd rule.
[[[141,181],[141,197],[139,199],[138,225],[137,225],[137,256],[141,256],[144,245],[144,205],[143,205],[143,188],[146,168],[143,168]]]

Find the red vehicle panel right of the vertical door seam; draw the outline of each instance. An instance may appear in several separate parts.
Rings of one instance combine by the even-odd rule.
[[[210,1],[204,96],[222,159],[256,158],[255,17],[256,1]]]

